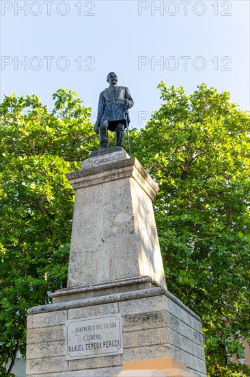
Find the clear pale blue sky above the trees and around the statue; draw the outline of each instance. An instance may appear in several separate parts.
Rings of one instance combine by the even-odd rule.
[[[58,88],[75,90],[96,119],[115,71],[143,127],[161,105],[157,85],[201,82],[228,90],[249,110],[249,1],[0,1],[1,100],[36,94],[52,108]],[[23,62],[23,63],[22,63]]]

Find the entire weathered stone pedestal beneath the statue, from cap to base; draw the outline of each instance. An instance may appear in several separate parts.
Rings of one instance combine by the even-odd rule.
[[[27,376],[110,377],[166,356],[206,376],[199,317],[165,285],[154,180],[119,148],[67,177],[76,191],[68,285],[28,311]]]

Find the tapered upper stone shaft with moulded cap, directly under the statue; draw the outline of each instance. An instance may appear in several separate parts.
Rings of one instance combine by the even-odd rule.
[[[67,176],[76,190],[68,287],[134,276],[165,287],[152,207],[158,187],[139,162],[122,150]]]

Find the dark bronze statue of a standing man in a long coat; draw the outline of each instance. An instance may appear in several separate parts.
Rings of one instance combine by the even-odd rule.
[[[134,105],[128,88],[117,86],[118,77],[115,72],[107,76],[109,88],[100,93],[98,114],[94,130],[100,134],[100,148],[108,146],[108,130],[116,132],[115,145],[123,147],[124,130],[130,122],[128,109]]]

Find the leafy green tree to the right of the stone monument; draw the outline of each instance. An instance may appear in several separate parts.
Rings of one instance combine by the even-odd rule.
[[[245,367],[227,362],[250,341],[249,115],[205,84],[191,95],[158,88],[161,108],[130,138],[160,186],[168,289],[202,318],[208,376],[239,376]]]

